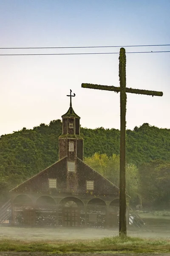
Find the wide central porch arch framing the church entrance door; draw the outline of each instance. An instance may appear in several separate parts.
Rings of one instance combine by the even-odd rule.
[[[84,225],[85,206],[79,198],[67,197],[60,201],[60,225],[67,227],[80,227]]]

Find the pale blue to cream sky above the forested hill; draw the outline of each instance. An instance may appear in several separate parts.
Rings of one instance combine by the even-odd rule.
[[[0,47],[170,44],[169,0],[0,0]],[[126,51],[170,47],[125,48]],[[3,50],[3,53],[118,52],[106,49]],[[61,119],[72,89],[83,127],[119,128],[119,94],[81,88],[119,86],[119,55],[0,56],[0,135]],[[170,53],[127,54],[127,128],[170,128]]]

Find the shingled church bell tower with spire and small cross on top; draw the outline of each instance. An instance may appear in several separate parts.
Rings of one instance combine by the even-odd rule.
[[[72,108],[71,97],[70,108],[67,113],[62,115],[62,135],[59,137],[59,160],[68,157],[68,160],[74,160],[76,157],[83,160],[83,138],[80,136],[80,117]]]

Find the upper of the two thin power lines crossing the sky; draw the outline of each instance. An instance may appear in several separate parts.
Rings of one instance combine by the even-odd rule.
[[[145,44],[145,45],[112,45],[112,46],[73,46],[73,47],[0,47],[0,49],[75,49],[75,48],[113,48],[113,47],[156,47],[170,46],[170,44]]]

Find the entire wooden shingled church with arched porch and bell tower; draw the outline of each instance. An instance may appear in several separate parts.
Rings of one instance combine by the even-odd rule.
[[[11,224],[114,227],[119,188],[83,162],[80,117],[71,104],[62,116],[59,160],[10,191]],[[74,94],[75,96],[75,94]]]

